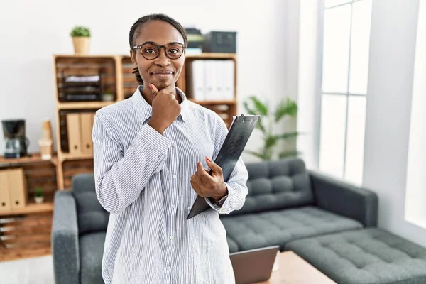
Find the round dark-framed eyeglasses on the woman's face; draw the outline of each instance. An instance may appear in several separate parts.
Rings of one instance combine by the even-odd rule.
[[[140,49],[142,56],[148,60],[154,60],[155,58],[158,58],[161,48],[164,48],[165,56],[168,58],[178,59],[185,51],[186,45],[183,45],[182,43],[168,43],[166,45],[158,45],[152,41],[147,41],[141,45],[133,46],[132,49],[136,48]]]

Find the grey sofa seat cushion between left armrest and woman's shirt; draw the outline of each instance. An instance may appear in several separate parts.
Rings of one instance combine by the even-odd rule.
[[[80,283],[104,284],[102,279],[102,256],[106,232],[80,236]]]

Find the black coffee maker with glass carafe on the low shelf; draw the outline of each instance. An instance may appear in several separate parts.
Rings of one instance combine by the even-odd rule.
[[[25,135],[25,120],[1,121],[4,133],[4,158],[21,158],[27,155],[28,139]]]

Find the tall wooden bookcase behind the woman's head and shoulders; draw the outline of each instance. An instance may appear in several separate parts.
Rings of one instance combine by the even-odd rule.
[[[234,60],[234,99],[227,101],[196,101],[192,98],[192,102],[200,104],[204,107],[216,111],[217,114],[223,117],[226,124],[229,126],[232,121],[232,116],[236,114],[236,55],[234,53],[202,53],[199,55],[187,55],[185,64],[191,60]],[[70,185],[70,173],[85,173],[93,170],[93,165],[90,165],[87,160],[92,160],[92,153],[71,153],[70,146],[67,145],[67,125],[65,122],[65,112],[82,112],[82,111],[97,111],[109,104],[114,104],[123,99],[131,97],[135,92],[138,83],[135,76],[132,74],[133,64],[131,58],[126,55],[55,55],[53,58],[53,69],[55,77],[55,99],[57,109],[57,146],[58,156],[56,161],[58,189],[63,190]],[[183,92],[187,89],[187,74],[185,67],[177,86]],[[100,74],[102,84],[108,92],[113,93],[114,101],[111,102],[62,102],[62,80],[66,75],[94,75]],[[72,165],[70,162],[73,161]],[[81,163],[86,163],[80,167]]]

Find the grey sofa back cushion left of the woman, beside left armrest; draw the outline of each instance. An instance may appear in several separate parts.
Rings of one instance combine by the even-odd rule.
[[[109,213],[97,200],[93,173],[75,175],[72,192],[77,207],[79,234],[107,231]]]

